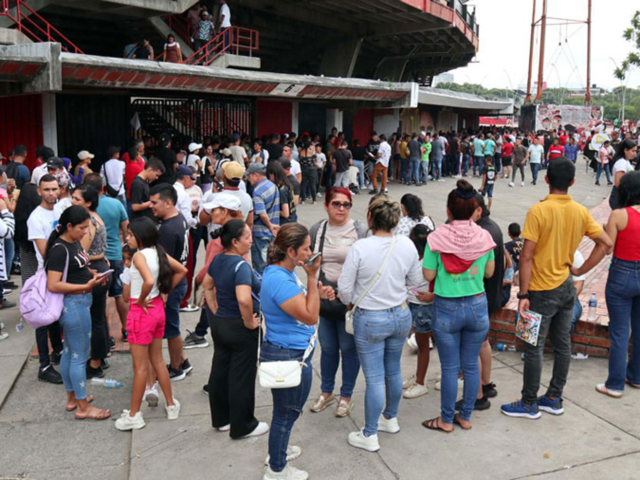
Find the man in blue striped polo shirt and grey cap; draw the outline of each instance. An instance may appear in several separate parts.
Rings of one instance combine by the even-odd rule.
[[[253,269],[260,275],[267,263],[267,248],[280,228],[280,192],[266,177],[262,163],[249,166],[247,180],[253,185]]]

